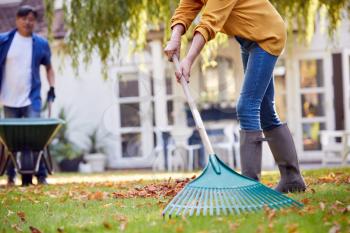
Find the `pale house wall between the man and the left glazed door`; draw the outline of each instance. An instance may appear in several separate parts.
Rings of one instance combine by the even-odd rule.
[[[52,64],[56,77],[56,99],[52,105],[52,117],[57,117],[62,108],[65,110],[69,138],[85,151],[89,148],[87,136],[98,128],[99,140],[102,144],[107,143],[106,152],[109,155],[109,164],[112,165],[115,139],[108,131],[110,126],[103,121],[106,111],[113,106],[112,82],[103,79],[98,59],[93,59],[86,67],[79,67],[77,75],[71,66],[71,59],[61,57],[57,50],[52,45]],[[42,68],[42,79],[45,80],[45,77]],[[43,99],[47,90],[48,84],[45,80],[42,88]]]

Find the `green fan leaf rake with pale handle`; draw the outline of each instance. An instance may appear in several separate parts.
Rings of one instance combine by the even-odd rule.
[[[179,61],[173,56],[175,67]],[[203,121],[190,94],[186,80],[181,85],[190,106],[196,127],[209,153],[207,166],[202,174],[188,183],[165,207],[163,216],[220,215],[255,212],[264,207],[280,209],[302,207],[303,205],[256,180],[245,177],[222,162],[214,153]]]

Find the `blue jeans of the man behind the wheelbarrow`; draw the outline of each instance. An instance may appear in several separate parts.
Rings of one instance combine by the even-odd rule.
[[[31,106],[21,107],[21,108],[13,108],[4,106],[5,118],[39,118],[40,112],[34,111]],[[30,151],[24,151],[24,154],[30,153]],[[40,161],[39,171],[35,174],[37,177],[46,177],[46,167],[43,160]],[[13,179],[16,176],[16,171],[14,164],[10,161],[9,166],[7,168],[7,176]]]

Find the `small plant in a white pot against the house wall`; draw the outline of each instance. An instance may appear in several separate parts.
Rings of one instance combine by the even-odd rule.
[[[88,135],[89,146],[84,160],[90,164],[92,172],[103,172],[106,167],[106,155],[104,147],[101,144],[101,138],[98,138],[99,130],[94,129]]]

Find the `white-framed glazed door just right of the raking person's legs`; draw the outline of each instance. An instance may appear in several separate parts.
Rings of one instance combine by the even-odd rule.
[[[334,129],[331,55],[325,52],[298,54],[295,60],[297,149],[301,160],[321,159],[320,131]]]

